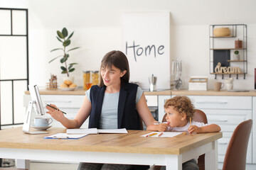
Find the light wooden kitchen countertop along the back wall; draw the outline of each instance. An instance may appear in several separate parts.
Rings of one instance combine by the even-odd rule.
[[[29,94],[29,91],[25,91],[25,94]],[[40,89],[40,94],[42,95],[85,95],[85,90],[75,89],[74,91],[61,91],[56,90],[46,90]],[[188,90],[163,90],[163,91],[144,91],[145,95],[186,95],[186,96],[256,96],[256,91],[247,92],[231,92],[231,91],[188,91]]]

